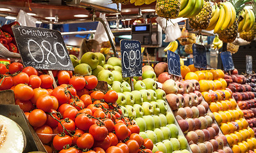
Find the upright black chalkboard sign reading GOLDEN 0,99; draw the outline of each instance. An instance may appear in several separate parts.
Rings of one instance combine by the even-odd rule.
[[[120,45],[123,77],[141,77],[141,42],[137,40],[121,40]]]

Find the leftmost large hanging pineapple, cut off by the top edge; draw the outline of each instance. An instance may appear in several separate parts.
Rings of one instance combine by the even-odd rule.
[[[180,13],[180,0],[157,0],[155,11],[159,17],[176,18]]]

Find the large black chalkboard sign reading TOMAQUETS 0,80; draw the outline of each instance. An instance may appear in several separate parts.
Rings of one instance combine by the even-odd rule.
[[[73,64],[60,32],[21,25],[12,26],[24,66],[35,69],[73,71]]]

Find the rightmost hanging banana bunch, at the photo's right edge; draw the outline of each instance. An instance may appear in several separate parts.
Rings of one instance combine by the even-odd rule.
[[[255,15],[253,11],[251,9],[244,8],[244,10],[241,13],[241,16],[243,17],[243,20],[241,20],[238,24],[238,33],[242,31],[250,31],[255,22]]]

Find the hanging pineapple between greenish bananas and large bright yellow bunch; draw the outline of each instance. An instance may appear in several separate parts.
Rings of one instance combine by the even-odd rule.
[[[189,25],[195,30],[206,29],[210,24],[211,16],[212,6],[209,1],[205,1],[200,13],[195,17],[189,18]]]

